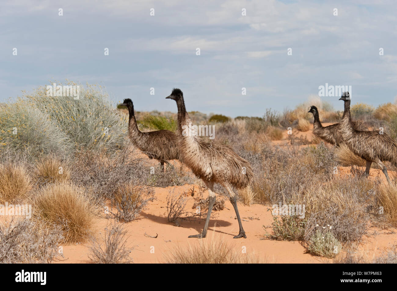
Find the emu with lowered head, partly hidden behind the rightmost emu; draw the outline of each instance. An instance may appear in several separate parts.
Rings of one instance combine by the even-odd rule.
[[[308,112],[313,113],[313,116],[314,116],[313,134],[316,137],[323,139],[327,143],[330,143],[330,144],[336,145],[336,146],[339,146],[341,143],[343,143],[341,134],[339,133],[339,131],[341,129],[340,122],[324,127],[324,126],[322,126],[322,124],[320,122],[320,116],[318,114],[317,107],[312,105]],[[346,114],[346,110],[345,110],[345,112],[343,112],[343,116],[345,116],[345,114]],[[358,130],[361,130],[361,131],[368,130],[368,128],[365,127],[362,124],[362,122],[353,121],[352,123],[353,123],[353,127]]]

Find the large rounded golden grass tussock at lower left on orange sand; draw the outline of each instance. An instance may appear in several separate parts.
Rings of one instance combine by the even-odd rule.
[[[93,232],[96,205],[75,186],[50,184],[37,193],[33,204],[36,217],[61,226],[66,243],[83,242]]]

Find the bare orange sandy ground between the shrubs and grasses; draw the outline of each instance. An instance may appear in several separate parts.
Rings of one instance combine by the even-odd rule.
[[[324,124],[326,126],[328,124]],[[312,130],[306,132],[295,132],[295,136],[312,139]],[[285,138],[287,134],[285,134]],[[287,143],[286,140],[276,141],[275,143]],[[338,175],[351,175],[350,167],[340,167]],[[370,170],[370,179],[380,177],[384,182],[385,178],[382,171],[378,169]],[[135,263],[157,263],[166,262],[174,248],[195,247],[200,240],[188,238],[189,235],[201,232],[204,221],[181,221],[180,226],[175,226],[167,221],[167,196],[170,194],[183,194],[196,185],[184,185],[167,188],[154,188],[156,200],[143,211],[138,219],[133,222],[125,223],[125,229],[129,235],[127,246],[134,247],[131,258]],[[195,193],[197,191],[195,190]],[[208,191],[203,194],[208,196]],[[186,210],[195,212],[193,198],[189,198]],[[243,219],[243,227],[247,238],[233,239],[239,232],[235,212],[228,200],[225,201],[225,208],[222,211],[214,211],[208,227],[207,237],[202,239],[204,243],[211,240],[222,240],[229,245],[235,253],[242,253],[246,249],[247,255],[256,257],[260,262],[269,263],[326,263],[331,259],[324,259],[306,253],[306,248],[302,242],[280,242],[266,239],[265,234],[271,232],[272,223],[271,207],[254,204],[244,206],[239,204],[240,215]],[[268,211],[270,209],[270,211]],[[96,235],[103,234],[106,224],[110,220],[105,216],[96,221]],[[150,238],[145,236],[156,236]],[[382,255],[384,251],[392,247],[397,241],[397,229],[379,230],[370,228],[367,235],[364,235],[362,242],[358,245],[357,253],[360,252],[364,257],[373,258]],[[203,242],[201,242],[203,243]],[[86,244],[65,245],[63,246],[64,259],[58,263],[85,263],[88,262],[89,247]]]

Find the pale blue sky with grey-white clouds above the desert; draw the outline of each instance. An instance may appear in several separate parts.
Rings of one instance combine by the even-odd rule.
[[[173,87],[188,111],[231,117],[293,109],[326,83],[351,86],[352,104],[395,102],[396,12],[377,0],[2,0],[0,102],[66,79],[138,111],[176,112]]]

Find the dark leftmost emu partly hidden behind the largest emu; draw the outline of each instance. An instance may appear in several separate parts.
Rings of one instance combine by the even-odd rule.
[[[131,142],[144,152],[150,159],[160,161],[164,170],[164,163],[170,164],[168,160],[178,159],[176,146],[177,135],[172,131],[162,129],[157,131],[142,132],[139,130],[134,114],[134,105],[131,99],[124,99],[118,106],[128,108],[128,133]]]

